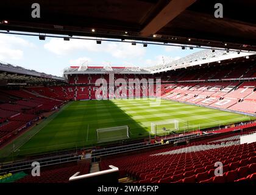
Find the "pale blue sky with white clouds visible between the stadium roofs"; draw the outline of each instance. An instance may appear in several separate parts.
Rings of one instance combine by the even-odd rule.
[[[199,49],[182,50],[177,46],[157,46],[95,40],[64,41],[63,38],[39,40],[26,35],[0,34],[0,62],[34,69],[40,73],[62,76],[68,66],[87,62],[90,66],[149,67],[180,59]]]

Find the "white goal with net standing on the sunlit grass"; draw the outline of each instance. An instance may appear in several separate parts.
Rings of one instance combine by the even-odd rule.
[[[179,121],[177,120],[151,122],[151,133],[154,135],[176,130],[179,130]]]

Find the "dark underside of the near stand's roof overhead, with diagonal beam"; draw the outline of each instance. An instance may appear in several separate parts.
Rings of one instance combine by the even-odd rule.
[[[2,0],[0,23],[8,23],[0,30],[256,51],[255,0],[38,0],[40,18],[31,16],[33,3]],[[224,18],[215,18],[216,3]]]

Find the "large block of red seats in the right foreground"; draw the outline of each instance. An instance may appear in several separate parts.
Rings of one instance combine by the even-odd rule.
[[[117,166],[121,177],[128,174],[139,183],[234,182],[255,174],[255,149],[256,143],[176,154],[166,154],[163,153],[165,149],[160,149],[104,160],[101,169],[108,165]],[[224,165],[223,176],[214,174],[216,161]]]

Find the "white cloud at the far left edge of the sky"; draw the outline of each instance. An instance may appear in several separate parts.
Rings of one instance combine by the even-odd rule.
[[[22,59],[23,47],[35,47],[35,45],[15,35],[0,34],[0,60]]]

